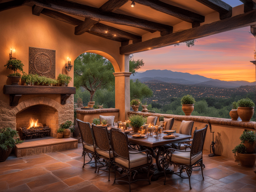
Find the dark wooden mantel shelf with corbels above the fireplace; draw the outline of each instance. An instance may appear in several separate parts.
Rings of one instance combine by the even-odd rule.
[[[71,94],[76,94],[76,87],[4,85],[4,94],[10,94],[10,106],[17,106],[22,95],[33,94],[60,94],[64,105]]]

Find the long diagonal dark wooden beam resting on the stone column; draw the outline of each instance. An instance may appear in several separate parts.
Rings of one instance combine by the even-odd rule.
[[[120,47],[120,54],[133,54],[150,49],[174,45],[180,42],[185,42],[209,35],[214,35],[224,31],[229,31],[241,27],[246,27],[255,24],[256,10],[237,15],[231,18],[219,20],[211,24],[205,24],[192,29],[179,31],[166,35],[164,37],[157,37],[137,44],[125,45]]]

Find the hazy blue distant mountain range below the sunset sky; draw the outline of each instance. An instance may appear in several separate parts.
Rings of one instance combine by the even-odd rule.
[[[254,82],[248,81],[221,81],[219,79],[211,79],[200,75],[192,75],[190,73],[175,72],[170,70],[147,70],[143,73],[136,73],[130,76],[131,79],[138,79],[141,82],[164,82],[178,83],[184,85],[220,87],[220,88],[236,88],[246,85],[255,85]]]

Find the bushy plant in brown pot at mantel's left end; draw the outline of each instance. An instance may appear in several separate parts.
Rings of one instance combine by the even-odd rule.
[[[21,78],[21,74],[18,73],[18,70],[23,72],[23,64],[21,60],[18,59],[10,59],[6,62],[6,67],[7,69],[11,69],[14,71],[14,73],[9,74],[9,79],[12,82],[12,85],[19,85],[19,80]]]

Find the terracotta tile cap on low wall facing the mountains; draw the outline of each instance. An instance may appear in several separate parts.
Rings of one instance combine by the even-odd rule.
[[[231,119],[224,118],[215,118],[215,117],[203,117],[203,116],[185,116],[185,115],[170,115],[170,114],[161,114],[161,113],[144,113],[141,111],[128,111],[128,115],[131,114],[140,114],[143,116],[164,116],[165,118],[174,118],[177,121],[197,121],[203,123],[211,123],[217,125],[228,125],[228,126],[236,126],[243,127],[244,129],[250,128],[256,130],[256,123],[254,121],[244,122],[244,121],[233,121]]]

